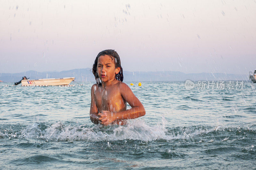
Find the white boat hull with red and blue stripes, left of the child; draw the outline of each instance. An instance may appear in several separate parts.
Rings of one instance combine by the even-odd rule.
[[[44,78],[38,80],[25,79],[21,80],[22,86],[48,86],[48,85],[69,85],[74,81],[74,77],[68,78]]]

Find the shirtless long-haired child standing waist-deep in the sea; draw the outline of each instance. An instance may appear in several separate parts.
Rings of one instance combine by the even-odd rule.
[[[125,124],[146,114],[140,100],[123,83],[123,69],[115,50],[101,51],[93,64],[92,72],[97,84],[91,89],[90,119],[95,124]],[[126,102],[132,107],[126,110]]]

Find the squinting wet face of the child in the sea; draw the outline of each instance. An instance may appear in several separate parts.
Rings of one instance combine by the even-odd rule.
[[[115,78],[120,68],[116,68],[114,60],[108,55],[101,55],[98,58],[97,73],[102,82]]]

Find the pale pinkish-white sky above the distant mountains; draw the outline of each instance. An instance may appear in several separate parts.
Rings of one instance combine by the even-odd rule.
[[[0,0],[0,73],[92,68],[115,49],[124,71],[248,74],[255,0]]]

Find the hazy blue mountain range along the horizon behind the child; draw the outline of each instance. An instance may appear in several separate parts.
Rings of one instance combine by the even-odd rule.
[[[0,73],[0,80],[4,82],[17,82],[23,76],[30,79],[76,77],[75,81],[95,81],[94,75],[86,69],[73,69],[66,71],[26,71],[21,73]],[[124,81],[185,81],[185,80],[248,80],[248,75],[225,73],[183,73],[180,71],[124,71]]]

